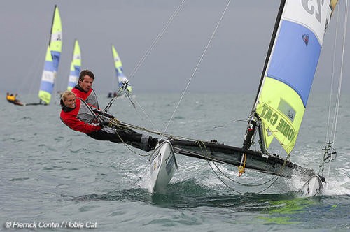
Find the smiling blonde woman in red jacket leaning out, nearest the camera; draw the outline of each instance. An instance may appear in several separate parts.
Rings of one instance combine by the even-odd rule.
[[[69,90],[62,94],[61,106],[62,122],[70,129],[86,133],[91,138],[127,143],[146,152],[153,150],[158,143],[158,138],[137,133],[132,129],[109,127],[109,120],[114,118],[112,115],[88,105]]]

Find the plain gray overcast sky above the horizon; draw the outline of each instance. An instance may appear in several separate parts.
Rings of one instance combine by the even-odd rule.
[[[94,71],[97,76],[94,89],[104,93],[112,89],[113,79],[116,79],[111,45],[116,46],[125,74],[130,76],[181,1],[1,0],[0,92],[38,91],[55,4],[59,6],[63,28],[55,90],[66,89],[73,41],[78,38],[82,68]],[[187,0],[151,54],[130,78],[134,93],[182,92],[227,2]],[[232,0],[189,91],[255,93],[279,2]],[[344,4],[341,6],[344,11]],[[329,90],[335,23],[336,17],[333,17],[312,92]],[[348,46],[345,64],[349,64],[349,51]],[[345,66],[344,91],[350,89],[349,73],[349,66]]]

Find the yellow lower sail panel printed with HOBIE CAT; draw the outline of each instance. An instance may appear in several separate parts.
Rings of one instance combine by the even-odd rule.
[[[302,99],[294,89],[279,80],[266,77],[256,106],[263,133],[267,136],[266,148],[272,142],[272,136],[269,135],[273,135],[289,154],[295,145],[304,111]]]

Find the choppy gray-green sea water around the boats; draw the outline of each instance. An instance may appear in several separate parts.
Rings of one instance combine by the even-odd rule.
[[[187,94],[176,109],[180,96],[137,94],[135,108],[129,99],[117,99],[109,113],[153,131],[241,146],[255,96]],[[311,94],[291,157],[316,172],[325,147],[327,99]],[[14,106],[3,97],[0,231],[349,230],[348,99],[343,96],[340,103],[333,145],[337,157],[325,168],[325,194],[300,198],[298,177],[273,179],[249,170],[238,177],[235,166],[179,154],[179,171],[167,189],[153,193],[149,153],[72,131],[59,119],[57,96],[49,106]],[[38,101],[36,96],[21,100]],[[109,100],[100,95],[100,107]]]

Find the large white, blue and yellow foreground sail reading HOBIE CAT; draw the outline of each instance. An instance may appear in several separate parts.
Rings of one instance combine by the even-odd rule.
[[[288,154],[295,146],[323,36],[336,4],[337,0],[284,1],[255,102],[266,148],[273,138],[279,140]]]

